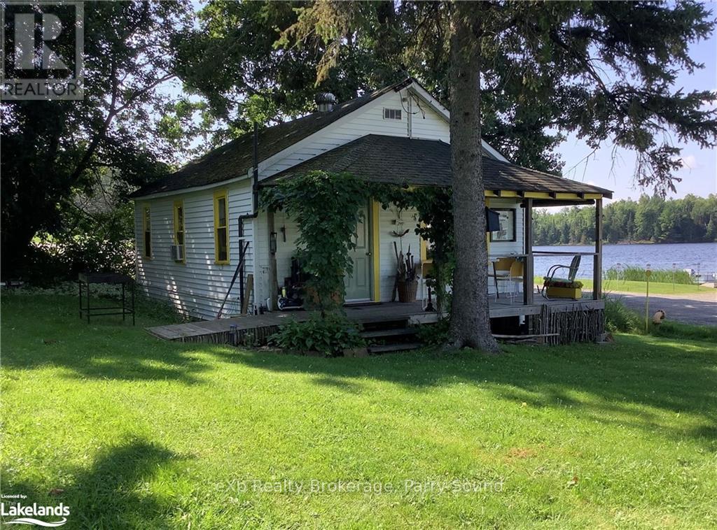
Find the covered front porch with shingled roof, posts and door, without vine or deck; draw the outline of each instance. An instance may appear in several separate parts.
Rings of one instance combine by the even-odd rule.
[[[347,172],[371,183],[393,184],[401,188],[448,188],[452,182],[449,144],[435,140],[367,135],[262,180],[260,186],[275,186],[281,180],[313,170]],[[538,255],[533,251],[533,211],[547,206],[595,206],[594,252],[579,254],[583,263],[592,261],[594,282],[589,299],[599,301],[602,298],[602,199],[612,197],[612,192],[505,163],[488,155],[483,157],[483,172],[486,206],[512,215],[512,226],[503,230],[508,232],[507,236],[489,234],[489,267],[492,268],[492,264],[501,258],[519,261],[522,266],[521,295],[510,300],[509,305],[531,307],[549,302],[540,297],[533,284],[534,258]],[[376,201],[366,208],[366,222],[357,230],[362,244],[354,267],[365,274],[365,291],[352,301],[394,300],[392,291],[397,265],[394,244],[397,241],[404,251],[411,249],[421,270],[431,261],[426,242],[415,235],[412,229],[417,226],[417,213],[393,210],[392,206],[388,210],[381,208]],[[265,266],[260,268],[267,271],[265,291],[269,294],[269,306],[273,308],[276,307],[277,288],[282,286],[288,276],[290,256],[295,250],[293,237],[298,232],[281,212],[265,213],[265,217],[260,219],[260,227],[262,224],[265,227],[262,234],[265,252],[259,249],[259,254],[265,256]],[[404,231],[404,228],[408,228],[408,235],[397,238],[396,233]],[[554,255],[556,260],[560,260],[575,254],[555,252],[540,255]],[[493,307],[502,307],[508,300],[496,293],[493,281],[489,281],[489,292],[493,316],[496,314]],[[427,289],[421,279],[419,299],[425,300],[426,294]],[[351,300],[353,297],[347,298]],[[585,298],[582,296],[581,300]]]

